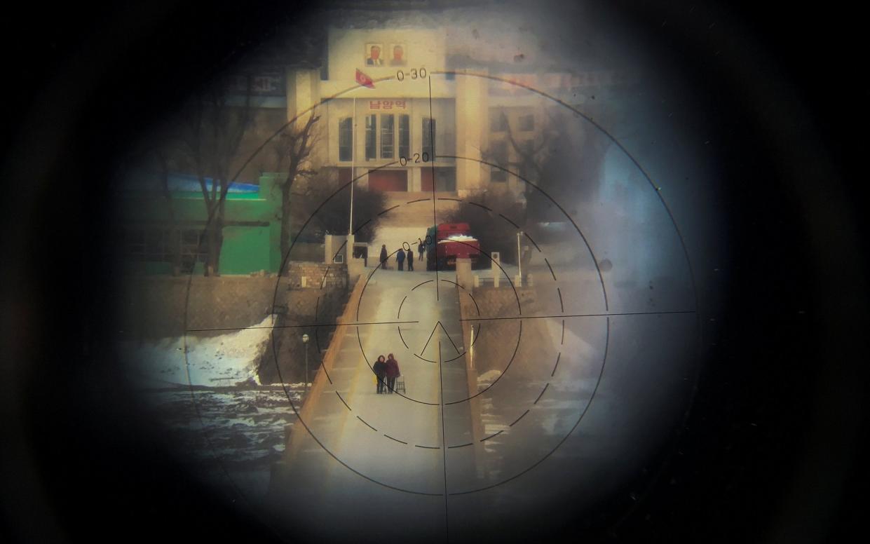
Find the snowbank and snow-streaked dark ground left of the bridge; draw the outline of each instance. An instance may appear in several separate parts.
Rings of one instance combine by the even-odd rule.
[[[271,465],[284,452],[285,427],[297,420],[293,406],[305,394],[304,383],[259,383],[272,323],[268,316],[217,336],[120,346],[127,379],[144,410],[164,426],[171,453],[227,496],[241,493],[255,502],[264,498]]]

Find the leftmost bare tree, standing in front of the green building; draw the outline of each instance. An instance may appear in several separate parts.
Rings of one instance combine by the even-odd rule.
[[[187,158],[197,174],[203,194],[205,225],[205,275],[218,275],[223,245],[226,193],[231,165],[238,155],[244,133],[251,124],[251,77],[246,77],[244,104],[232,104],[229,81],[224,77],[197,92],[184,110],[181,140]],[[211,177],[211,187],[206,178]]]

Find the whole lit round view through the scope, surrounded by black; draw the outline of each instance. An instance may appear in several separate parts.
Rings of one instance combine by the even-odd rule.
[[[124,172],[143,406],[279,532],[461,541],[612,494],[699,372],[669,173],[632,155],[649,74],[517,14],[333,16],[317,65],[233,66]]]

